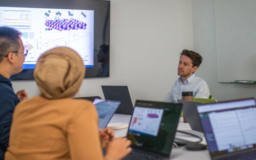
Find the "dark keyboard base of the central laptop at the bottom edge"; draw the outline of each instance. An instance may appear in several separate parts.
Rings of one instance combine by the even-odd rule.
[[[160,154],[154,154],[150,152],[145,152],[145,151],[140,151],[140,150],[135,150],[128,154],[123,160],[147,160],[147,159],[156,159],[156,160],[165,160],[168,159],[168,157],[163,157],[163,155]]]

